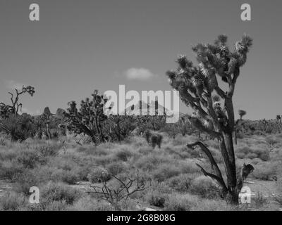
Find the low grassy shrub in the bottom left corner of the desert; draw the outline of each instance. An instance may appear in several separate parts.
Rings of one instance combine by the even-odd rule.
[[[16,192],[10,192],[0,198],[0,211],[24,210],[27,205],[27,198]]]

